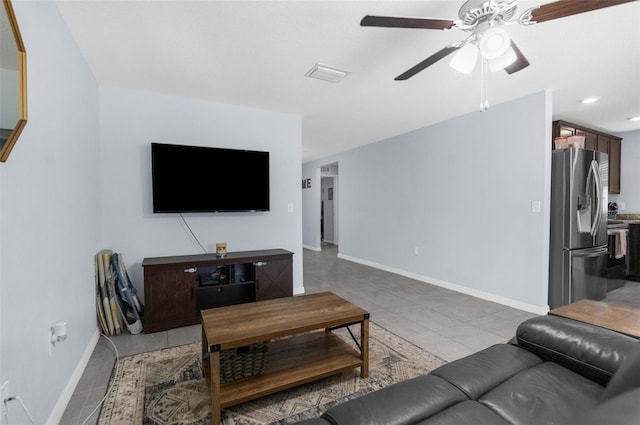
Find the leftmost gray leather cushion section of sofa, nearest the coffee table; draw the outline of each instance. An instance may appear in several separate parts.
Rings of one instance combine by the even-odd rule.
[[[416,424],[467,400],[462,391],[433,375],[422,375],[327,410],[322,418],[334,425]]]

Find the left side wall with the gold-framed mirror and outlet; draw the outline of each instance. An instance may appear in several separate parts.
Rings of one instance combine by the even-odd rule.
[[[0,164],[0,382],[44,424],[61,416],[97,338],[98,88],[53,1],[13,5],[27,51],[28,122]],[[68,338],[49,356],[58,321]],[[7,419],[29,423],[17,402]]]

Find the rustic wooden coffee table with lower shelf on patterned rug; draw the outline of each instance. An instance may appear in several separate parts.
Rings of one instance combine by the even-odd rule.
[[[369,374],[369,313],[331,292],[202,310],[203,370],[211,393],[213,425],[225,407],[360,368]],[[352,347],[333,332],[360,325]],[[285,338],[286,337],[286,338]],[[264,341],[264,373],[220,382],[220,352]]]

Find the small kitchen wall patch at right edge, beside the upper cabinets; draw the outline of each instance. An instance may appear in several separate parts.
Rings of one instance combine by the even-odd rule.
[[[609,201],[618,203],[619,212],[640,213],[640,131],[617,135],[622,137],[620,194],[609,195]]]

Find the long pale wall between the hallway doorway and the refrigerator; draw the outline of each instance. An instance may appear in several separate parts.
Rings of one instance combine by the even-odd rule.
[[[342,258],[544,312],[550,138],[550,95],[538,93],[304,164],[303,176],[340,163]],[[304,206],[306,232],[316,217]]]

